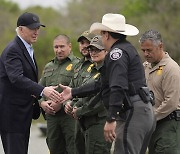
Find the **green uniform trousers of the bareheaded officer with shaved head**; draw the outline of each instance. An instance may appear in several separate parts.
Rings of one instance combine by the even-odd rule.
[[[50,154],[74,154],[75,120],[58,112],[55,116],[46,115],[47,145]]]

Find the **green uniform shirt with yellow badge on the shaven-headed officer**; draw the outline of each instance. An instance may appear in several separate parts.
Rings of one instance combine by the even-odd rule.
[[[54,58],[46,64],[39,84],[43,86],[69,85],[74,76],[74,67],[78,62],[79,59],[72,53],[62,61]],[[57,91],[61,92],[62,90],[58,88]]]

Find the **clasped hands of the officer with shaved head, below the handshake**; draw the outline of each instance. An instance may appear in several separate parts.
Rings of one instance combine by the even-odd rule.
[[[42,101],[41,107],[47,114],[55,115],[55,110],[50,106],[51,103],[53,103],[51,100],[48,101]]]

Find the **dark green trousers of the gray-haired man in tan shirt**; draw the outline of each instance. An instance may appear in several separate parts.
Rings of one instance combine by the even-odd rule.
[[[149,144],[149,154],[180,154],[180,121],[157,122]]]

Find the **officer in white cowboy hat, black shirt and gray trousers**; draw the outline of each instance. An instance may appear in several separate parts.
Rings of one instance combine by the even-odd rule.
[[[115,141],[115,154],[145,154],[155,128],[155,119],[146,87],[144,68],[136,49],[126,36],[138,29],[125,23],[121,14],[105,14],[102,23],[91,25],[90,32],[100,33],[108,51],[101,70],[101,81],[83,87],[63,87],[64,99],[102,93],[108,109],[104,126],[107,141]]]

